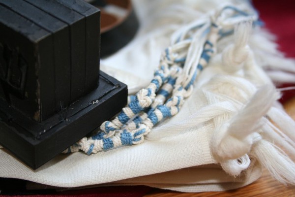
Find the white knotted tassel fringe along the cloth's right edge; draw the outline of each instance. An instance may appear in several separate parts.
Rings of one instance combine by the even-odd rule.
[[[191,5],[190,14],[204,16],[208,12],[207,6],[199,6],[198,2],[185,2]],[[207,3],[211,5],[208,7],[218,7],[220,2]],[[193,12],[192,7],[201,11]],[[172,35],[172,40],[180,31]],[[265,29],[252,29],[251,22],[239,23],[234,34],[218,41],[217,55],[195,83],[199,96],[207,99],[207,106],[181,124],[162,124],[146,138],[160,140],[212,121],[212,154],[226,172],[239,175],[252,157],[280,182],[295,184],[294,162],[275,145],[295,155],[295,122],[277,107],[280,94],[273,86],[273,82],[295,83],[295,61],[285,58],[274,41],[275,36]]]

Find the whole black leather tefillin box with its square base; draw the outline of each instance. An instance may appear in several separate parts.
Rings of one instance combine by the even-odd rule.
[[[0,0],[0,145],[33,169],[127,102],[99,72],[99,24],[84,0]]]

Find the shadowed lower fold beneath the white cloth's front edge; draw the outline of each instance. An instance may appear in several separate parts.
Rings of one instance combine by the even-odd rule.
[[[243,187],[260,177],[261,167],[257,164],[255,166],[255,162],[253,164],[245,174],[238,177],[230,176],[222,170],[220,165],[209,164],[77,188],[54,187],[34,182],[28,182],[26,188],[28,191],[45,189],[66,191],[118,185],[146,185],[180,192],[224,191]]]

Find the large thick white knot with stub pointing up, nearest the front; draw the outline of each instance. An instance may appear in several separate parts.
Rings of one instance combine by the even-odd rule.
[[[236,159],[250,151],[251,134],[262,126],[261,118],[277,97],[272,86],[261,88],[230,122],[215,129],[211,147],[219,161]]]

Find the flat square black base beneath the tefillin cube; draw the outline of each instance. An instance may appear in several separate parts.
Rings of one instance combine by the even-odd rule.
[[[127,86],[100,72],[96,90],[36,123],[0,100],[0,144],[36,169],[116,115],[127,103]]]

